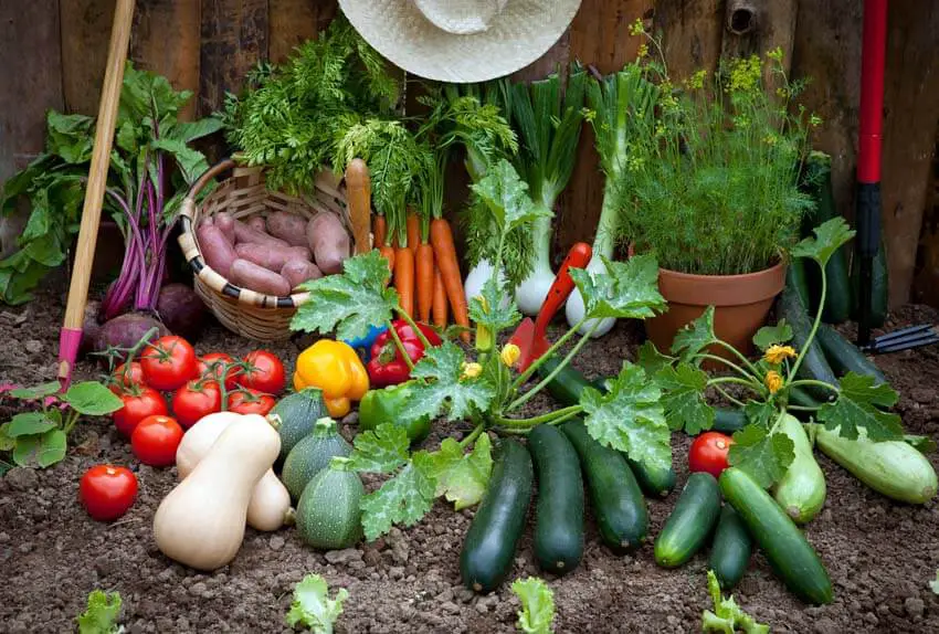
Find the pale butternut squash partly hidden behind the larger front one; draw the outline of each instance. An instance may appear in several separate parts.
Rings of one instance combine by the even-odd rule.
[[[252,420],[255,424],[267,425],[264,416],[257,414],[218,412],[202,418],[186,432],[176,451],[176,468],[180,480],[192,473],[196,465],[209,453],[219,435],[236,420]],[[287,487],[274,475],[273,469],[267,469],[251,495],[251,503],[247,505],[247,526],[255,530],[271,531],[277,530],[285,524],[292,524],[293,519],[294,510],[291,508],[291,494]]]

